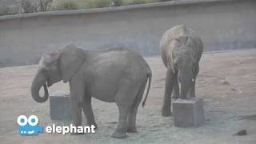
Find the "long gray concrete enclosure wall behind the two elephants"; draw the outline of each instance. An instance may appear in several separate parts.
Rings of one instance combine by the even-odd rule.
[[[202,36],[205,51],[256,47],[256,1],[186,0],[0,17],[0,66],[37,63],[43,52],[70,43],[154,55],[162,34],[179,24]]]

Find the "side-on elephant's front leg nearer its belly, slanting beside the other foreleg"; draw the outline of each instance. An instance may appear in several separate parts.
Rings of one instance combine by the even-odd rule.
[[[91,97],[90,98],[85,98],[85,102],[83,102],[83,113],[86,116],[87,119],[87,124],[89,126],[94,125],[97,128],[97,124],[94,119],[94,112],[92,110],[91,106]]]

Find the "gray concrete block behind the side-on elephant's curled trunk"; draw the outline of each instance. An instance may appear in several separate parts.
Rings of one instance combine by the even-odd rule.
[[[70,91],[57,90],[50,94],[50,119],[71,121]]]

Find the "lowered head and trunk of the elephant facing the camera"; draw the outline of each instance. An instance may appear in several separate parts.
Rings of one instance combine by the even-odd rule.
[[[173,51],[173,70],[177,74],[180,83],[180,97],[188,98],[188,94],[194,83],[194,73],[197,61],[194,56],[194,42],[191,38],[181,37],[174,39],[174,47],[180,47]]]

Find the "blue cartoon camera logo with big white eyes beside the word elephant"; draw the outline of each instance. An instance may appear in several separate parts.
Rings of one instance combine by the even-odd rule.
[[[17,118],[17,122],[20,135],[38,135],[43,131],[43,127],[38,126],[39,119],[35,115],[30,115],[29,118],[26,118],[25,115],[20,115]]]

